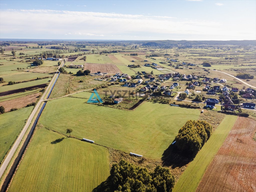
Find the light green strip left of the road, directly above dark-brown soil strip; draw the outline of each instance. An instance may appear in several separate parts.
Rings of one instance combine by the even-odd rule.
[[[14,84],[14,85],[1,86],[0,92],[30,87],[30,86],[34,86],[34,85],[41,85],[41,84],[48,83],[48,81],[50,81],[50,80],[51,80],[51,78],[47,78],[47,79],[40,79],[40,80],[36,80],[36,81],[29,81],[29,82],[25,82],[25,83],[18,83],[18,84]]]

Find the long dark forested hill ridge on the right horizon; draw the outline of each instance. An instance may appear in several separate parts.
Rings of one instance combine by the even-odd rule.
[[[143,46],[167,46],[167,45],[256,45],[256,40],[231,40],[231,41],[174,41],[174,40],[159,40],[148,41]]]

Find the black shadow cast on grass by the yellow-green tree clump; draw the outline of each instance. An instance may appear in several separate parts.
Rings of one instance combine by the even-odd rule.
[[[174,141],[173,141],[174,142]],[[188,154],[180,152],[175,144],[170,144],[169,147],[162,154],[163,166],[182,167],[193,160]]]

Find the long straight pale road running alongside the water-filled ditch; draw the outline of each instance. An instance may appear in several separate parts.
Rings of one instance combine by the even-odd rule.
[[[62,61],[62,63],[63,63],[63,61]],[[61,63],[61,65],[58,67],[58,69],[62,66],[62,63]],[[58,70],[57,70],[56,72],[58,72]],[[9,153],[7,154],[7,156],[6,156],[5,160],[4,160],[4,162],[2,163],[2,165],[1,165],[1,167],[0,167],[0,178],[2,177],[2,175],[3,175],[3,173],[4,173],[5,169],[6,169],[6,167],[8,166],[10,160],[12,159],[12,157],[13,157],[13,155],[14,155],[16,149],[18,148],[18,146],[19,146],[19,144],[20,144],[20,142],[22,141],[22,138],[24,137],[24,135],[25,135],[25,133],[26,133],[26,131],[27,131],[27,129],[28,129],[30,123],[32,122],[34,116],[36,115],[36,112],[37,112],[39,106],[41,105],[42,101],[44,101],[44,97],[45,97],[45,95],[47,94],[47,92],[49,91],[49,89],[51,88],[51,86],[52,86],[52,84],[53,84],[53,82],[54,82],[54,80],[55,80],[55,77],[56,77],[57,75],[58,75],[58,73],[55,73],[54,76],[52,77],[52,79],[51,79],[49,85],[47,86],[47,88],[46,88],[44,94],[42,95],[42,97],[40,98],[40,100],[39,100],[38,103],[36,104],[35,108],[34,108],[33,111],[31,112],[29,118],[27,119],[27,122],[26,122],[25,126],[23,127],[23,129],[22,129],[22,131],[20,132],[18,138],[16,139],[15,143],[13,144],[13,146],[12,146],[12,148],[10,149]]]

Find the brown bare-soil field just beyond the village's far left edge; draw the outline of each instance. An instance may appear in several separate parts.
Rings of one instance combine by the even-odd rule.
[[[84,70],[89,69],[91,73],[122,73],[117,66],[111,64],[95,64],[95,63],[85,63]]]

